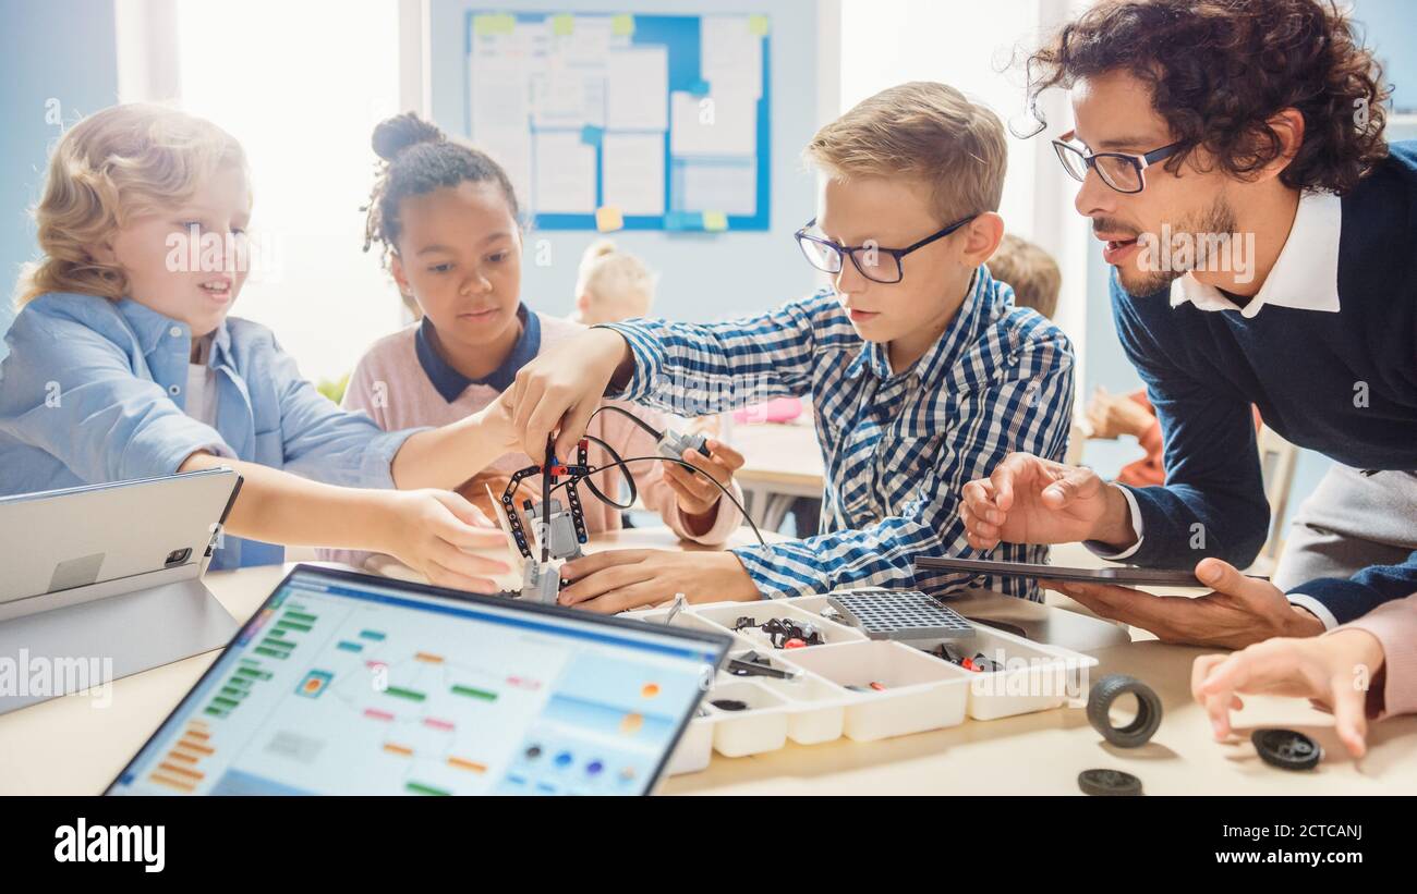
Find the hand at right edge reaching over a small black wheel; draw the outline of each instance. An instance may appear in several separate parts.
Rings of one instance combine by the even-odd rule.
[[[1216,740],[1230,736],[1237,693],[1312,699],[1333,712],[1338,737],[1353,757],[1367,750],[1367,689],[1383,668],[1383,645],[1367,631],[1306,639],[1267,639],[1231,655],[1202,655],[1190,693],[1210,714]]]

